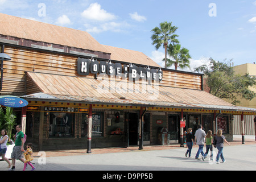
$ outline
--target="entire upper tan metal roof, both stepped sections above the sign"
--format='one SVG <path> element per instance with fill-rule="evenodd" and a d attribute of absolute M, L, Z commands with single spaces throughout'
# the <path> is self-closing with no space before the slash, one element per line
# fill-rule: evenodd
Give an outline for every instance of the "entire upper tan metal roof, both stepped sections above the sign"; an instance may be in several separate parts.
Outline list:
<path fill-rule="evenodd" d="M 160 67 L 142 52 L 102 45 L 98 43 L 97 40 L 94 39 L 88 32 L 38 22 L 35 20 L 19 18 L 2 13 L 0 13 L 0 34 L 13 36 L 16 38 L 35 40 L 38 42 L 58 44 L 61 46 L 111 53 L 110 59 L 112 60 L 149 65 L 151 67 Z M 18 44 L 17 41 L 5 39 L 1 39 L 1 42 Z M 32 44 L 32 47 L 42 48 L 44 46 Z M 44 47 L 44 49 L 64 52 L 64 49 L 52 47 Z M 72 50 L 70 52 L 85 56 L 90 55 L 89 53 L 76 52 Z M 97 57 L 97 55 L 93 54 L 90 56 Z"/>

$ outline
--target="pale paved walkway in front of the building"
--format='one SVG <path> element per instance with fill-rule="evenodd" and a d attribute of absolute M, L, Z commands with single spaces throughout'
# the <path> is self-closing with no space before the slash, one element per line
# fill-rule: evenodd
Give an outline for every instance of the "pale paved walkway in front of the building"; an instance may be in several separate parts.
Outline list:
<path fill-rule="evenodd" d="M 255 170 L 255 139 L 246 138 L 246 143 L 241 144 L 241 139 L 235 138 L 234 142 L 230 143 L 231 146 L 225 144 L 226 163 L 221 164 L 213 164 L 209 160 L 196 160 L 197 146 L 192 149 L 192 158 L 185 158 L 187 148 L 180 148 L 179 144 L 144 146 L 143 150 L 138 150 L 138 146 L 92 148 L 92 154 L 86 154 L 86 149 L 34 152 L 35 158 L 32 162 L 36 171 Z M 216 155 L 216 148 L 214 152 Z M 15 167 L 16 171 L 21 171 L 23 163 L 16 161 Z M 27 171 L 30 169 L 28 166 Z M 5 161 L 0 161 L 0 171 L 7 171 Z"/>

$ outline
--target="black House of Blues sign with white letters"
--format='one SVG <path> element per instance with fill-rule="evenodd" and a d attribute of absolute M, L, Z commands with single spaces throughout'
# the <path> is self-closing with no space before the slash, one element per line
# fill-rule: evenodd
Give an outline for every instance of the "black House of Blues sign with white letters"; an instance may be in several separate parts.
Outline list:
<path fill-rule="evenodd" d="M 97 61 L 94 59 L 82 59 L 79 57 L 77 60 L 77 73 L 82 76 L 95 74 L 96 78 L 98 74 L 104 74 L 109 76 L 120 76 L 133 79 L 133 80 L 152 80 L 160 82 L 163 79 L 163 71 L 159 69 L 150 69 L 149 67 L 137 67 L 135 64 L 122 64 L 111 63 L 109 60 Z"/>

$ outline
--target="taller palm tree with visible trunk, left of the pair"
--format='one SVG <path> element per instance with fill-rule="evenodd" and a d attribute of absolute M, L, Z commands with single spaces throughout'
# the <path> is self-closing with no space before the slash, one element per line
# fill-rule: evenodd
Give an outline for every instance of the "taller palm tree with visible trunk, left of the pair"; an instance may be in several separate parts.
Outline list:
<path fill-rule="evenodd" d="M 151 39 L 152 45 L 155 45 L 156 50 L 158 50 L 161 46 L 164 48 L 165 53 L 165 64 L 164 68 L 167 68 L 167 47 L 169 43 L 179 43 L 179 40 L 176 38 L 178 35 L 174 34 L 177 30 L 176 26 L 172 26 L 172 22 L 163 22 L 159 24 L 159 27 L 155 27 L 151 30 L 153 32 Z"/>

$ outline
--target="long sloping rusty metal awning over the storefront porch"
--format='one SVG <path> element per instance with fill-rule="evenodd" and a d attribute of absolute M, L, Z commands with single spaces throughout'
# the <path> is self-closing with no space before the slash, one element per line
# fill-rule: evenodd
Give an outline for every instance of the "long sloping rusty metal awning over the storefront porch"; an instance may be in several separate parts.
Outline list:
<path fill-rule="evenodd" d="M 85 102 L 98 105 L 143 106 L 158 109 L 181 108 L 187 111 L 228 111 L 233 114 L 256 114 L 256 109 L 234 106 L 203 90 L 181 89 L 128 82 L 126 79 L 53 75 L 27 72 L 28 100 Z M 236 113 L 237 112 L 237 113 Z M 239 113 L 238 113 L 239 112 Z"/>

